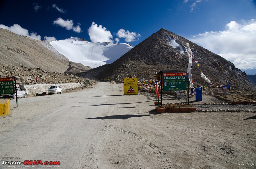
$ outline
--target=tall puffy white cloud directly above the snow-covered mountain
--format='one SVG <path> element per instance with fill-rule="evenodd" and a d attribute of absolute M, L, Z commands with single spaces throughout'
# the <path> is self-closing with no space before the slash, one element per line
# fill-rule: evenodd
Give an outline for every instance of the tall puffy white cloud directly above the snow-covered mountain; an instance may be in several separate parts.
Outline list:
<path fill-rule="evenodd" d="M 88 34 L 92 42 L 112 42 L 113 36 L 110 31 L 107 30 L 106 27 L 102 27 L 101 25 L 95 24 L 92 22 L 91 27 L 88 29 Z"/>

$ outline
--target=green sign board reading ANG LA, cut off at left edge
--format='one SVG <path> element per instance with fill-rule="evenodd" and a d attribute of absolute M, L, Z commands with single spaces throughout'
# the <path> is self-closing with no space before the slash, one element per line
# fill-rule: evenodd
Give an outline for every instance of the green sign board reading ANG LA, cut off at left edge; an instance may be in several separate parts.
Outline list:
<path fill-rule="evenodd" d="M 13 77 L 0 78 L 0 94 L 13 94 L 14 81 Z"/>

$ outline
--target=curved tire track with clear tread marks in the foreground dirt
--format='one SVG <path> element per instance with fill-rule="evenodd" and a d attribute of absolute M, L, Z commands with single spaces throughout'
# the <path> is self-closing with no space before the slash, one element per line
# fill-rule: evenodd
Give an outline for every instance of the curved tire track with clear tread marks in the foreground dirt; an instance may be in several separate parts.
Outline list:
<path fill-rule="evenodd" d="M 156 146 L 155 144 L 149 142 L 148 140 L 142 138 L 141 136 L 126 130 L 126 129 L 122 129 L 116 126 L 113 126 L 111 124 L 106 123 L 105 124 L 106 127 L 110 127 L 112 129 L 116 129 L 118 131 L 121 131 L 137 140 L 139 140 L 141 143 L 143 143 L 146 147 L 148 147 L 155 155 L 156 157 L 159 159 L 162 168 L 173 168 L 174 166 L 170 163 L 170 159 L 167 157 L 166 153 L 161 150 L 158 146 Z"/>

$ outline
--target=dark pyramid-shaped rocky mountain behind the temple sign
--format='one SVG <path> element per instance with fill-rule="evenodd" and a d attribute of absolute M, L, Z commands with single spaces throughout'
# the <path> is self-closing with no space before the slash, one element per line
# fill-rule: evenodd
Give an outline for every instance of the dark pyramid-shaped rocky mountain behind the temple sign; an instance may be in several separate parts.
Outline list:
<path fill-rule="evenodd" d="M 233 63 L 164 28 L 152 34 L 115 62 L 104 65 L 103 68 L 97 68 L 100 71 L 92 69 L 80 75 L 94 76 L 93 78 L 97 80 L 110 78 L 117 83 L 122 83 L 124 77 L 134 74 L 138 79 L 152 79 L 153 75 L 161 70 L 187 72 L 186 43 L 189 43 L 200 70 L 213 84 L 227 85 L 228 80 L 233 89 L 256 89 L 246 74 L 237 69 Z M 200 77 L 201 71 L 196 63 L 193 61 L 192 64 L 194 86 L 208 85 L 209 83 Z"/>

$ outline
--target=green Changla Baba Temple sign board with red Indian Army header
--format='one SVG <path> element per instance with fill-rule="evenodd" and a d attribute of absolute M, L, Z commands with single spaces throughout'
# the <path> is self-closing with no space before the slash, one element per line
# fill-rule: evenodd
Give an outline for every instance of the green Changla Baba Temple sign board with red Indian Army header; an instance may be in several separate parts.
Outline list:
<path fill-rule="evenodd" d="M 187 73 L 164 73 L 164 91 L 187 90 Z"/>

